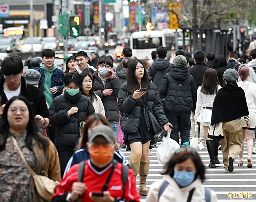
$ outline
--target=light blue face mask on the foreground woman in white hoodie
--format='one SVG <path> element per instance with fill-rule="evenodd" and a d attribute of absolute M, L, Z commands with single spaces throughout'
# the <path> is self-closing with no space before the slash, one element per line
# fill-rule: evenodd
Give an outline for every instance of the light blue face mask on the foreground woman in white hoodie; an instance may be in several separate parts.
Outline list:
<path fill-rule="evenodd" d="M 180 171 L 174 170 L 173 179 L 176 181 L 180 187 L 186 187 L 190 185 L 195 178 L 195 174 L 193 171 Z"/>

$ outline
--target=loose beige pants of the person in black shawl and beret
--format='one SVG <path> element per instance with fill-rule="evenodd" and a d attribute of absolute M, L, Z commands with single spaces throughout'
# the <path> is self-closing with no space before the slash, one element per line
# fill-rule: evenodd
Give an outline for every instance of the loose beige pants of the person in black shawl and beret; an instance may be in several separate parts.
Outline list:
<path fill-rule="evenodd" d="M 242 151 L 242 120 L 223 122 L 224 139 L 221 139 L 221 150 L 224 169 L 227 171 L 228 158 L 235 160 Z"/>

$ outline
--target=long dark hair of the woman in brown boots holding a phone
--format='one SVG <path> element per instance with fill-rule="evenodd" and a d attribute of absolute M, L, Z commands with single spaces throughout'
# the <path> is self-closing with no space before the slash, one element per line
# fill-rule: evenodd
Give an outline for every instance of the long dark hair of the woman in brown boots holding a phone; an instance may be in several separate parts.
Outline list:
<path fill-rule="evenodd" d="M 138 63 L 141 63 L 144 68 L 144 74 L 143 74 L 143 77 L 141 80 L 141 87 L 146 88 L 147 90 L 149 88 L 151 88 L 149 76 L 147 74 L 147 71 L 146 71 L 142 61 L 140 61 L 139 59 L 132 59 L 128 64 L 128 70 L 127 70 L 127 86 L 128 86 L 127 96 L 133 95 L 134 91 L 140 89 L 140 84 L 139 84 L 137 78 L 135 77 L 136 66 Z M 145 100 L 146 100 L 146 96 L 147 96 L 146 94 L 147 93 L 145 93 L 141 98 L 137 99 L 138 105 L 142 106 L 145 104 Z"/>

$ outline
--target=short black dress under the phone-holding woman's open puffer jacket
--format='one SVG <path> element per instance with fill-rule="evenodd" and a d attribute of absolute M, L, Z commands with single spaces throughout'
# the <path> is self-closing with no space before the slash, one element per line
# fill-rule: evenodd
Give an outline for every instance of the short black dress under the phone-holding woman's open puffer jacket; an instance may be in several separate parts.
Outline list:
<path fill-rule="evenodd" d="M 137 134 L 124 134 L 124 144 L 127 146 L 126 151 L 130 151 L 130 144 L 134 142 L 141 142 L 142 144 L 147 143 L 154 139 L 153 130 L 147 127 L 143 107 L 140 111 L 140 123 Z M 151 149 L 151 145 L 149 146 Z"/>

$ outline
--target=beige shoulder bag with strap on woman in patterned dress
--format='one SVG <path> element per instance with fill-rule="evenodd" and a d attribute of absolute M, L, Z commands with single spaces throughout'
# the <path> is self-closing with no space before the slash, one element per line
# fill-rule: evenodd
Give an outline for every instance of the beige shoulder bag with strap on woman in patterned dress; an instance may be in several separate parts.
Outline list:
<path fill-rule="evenodd" d="M 43 175 L 37 175 L 33 169 L 29 166 L 29 164 L 27 163 L 27 160 L 25 159 L 25 156 L 23 155 L 21 149 L 19 148 L 19 145 L 17 143 L 17 140 L 12 136 L 12 141 L 14 142 L 14 145 L 16 147 L 16 149 L 18 150 L 22 161 L 24 162 L 25 166 L 27 167 L 27 169 L 29 170 L 30 174 L 32 175 L 33 179 L 34 179 L 34 183 L 35 183 L 35 187 L 37 189 L 37 193 L 46 201 L 50 202 L 51 199 L 50 197 L 52 196 L 52 194 L 54 194 L 54 189 L 56 187 L 56 183 Z"/>

